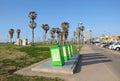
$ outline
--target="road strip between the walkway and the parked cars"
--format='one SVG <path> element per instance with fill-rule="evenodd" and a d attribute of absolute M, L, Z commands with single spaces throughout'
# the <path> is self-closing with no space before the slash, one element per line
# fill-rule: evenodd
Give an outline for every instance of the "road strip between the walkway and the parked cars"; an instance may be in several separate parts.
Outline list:
<path fill-rule="evenodd" d="M 100 60 L 109 60 L 104 62 L 108 69 L 120 79 L 120 52 L 103 49 L 95 45 L 89 45 L 96 53 L 103 55 Z M 104 57 L 104 58 L 103 58 Z"/>

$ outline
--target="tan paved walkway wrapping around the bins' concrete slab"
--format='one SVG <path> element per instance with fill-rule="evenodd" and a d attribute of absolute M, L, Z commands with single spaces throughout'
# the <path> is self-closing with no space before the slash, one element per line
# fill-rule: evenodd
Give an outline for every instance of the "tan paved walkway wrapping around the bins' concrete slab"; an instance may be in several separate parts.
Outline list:
<path fill-rule="evenodd" d="M 100 53 L 96 53 L 88 45 L 83 46 L 80 54 L 82 57 L 78 63 L 76 72 L 73 75 L 33 72 L 31 68 L 37 66 L 41 62 L 19 70 L 15 73 L 26 76 L 59 77 L 65 81 L 119 81 L 104 64 L 104 62 L 111 62 L 111 60 L 101 60 L 101 58 L 105 57 Z"/>

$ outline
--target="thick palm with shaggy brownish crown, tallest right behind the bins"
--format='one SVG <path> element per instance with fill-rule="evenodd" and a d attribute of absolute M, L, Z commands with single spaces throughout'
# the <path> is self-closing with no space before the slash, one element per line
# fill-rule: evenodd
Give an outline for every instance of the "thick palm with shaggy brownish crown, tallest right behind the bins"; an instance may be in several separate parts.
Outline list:
<path fill-rule="evenodd" d="M 67 40 L 67 37 L 68 37 L 69 23 L 68 22 L 63 22 L 61 25 L 62 25 L 63 36 L 64 36 L 63 43 L 65 43 L 66 40 Z"/>

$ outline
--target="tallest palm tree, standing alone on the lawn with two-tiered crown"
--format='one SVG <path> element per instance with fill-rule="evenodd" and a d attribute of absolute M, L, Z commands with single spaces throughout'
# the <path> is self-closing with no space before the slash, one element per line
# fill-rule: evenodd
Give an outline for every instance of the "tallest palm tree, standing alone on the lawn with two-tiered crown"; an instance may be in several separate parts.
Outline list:
<path fill-rule="evenodd" d="M 34 45 L 34 29 L 36 28 L 36 22 L 34 21 L 37 17 L 37 14 L 34 11 L 29 12 L 30 28 L 32 29 L 32 45 Z"/>

